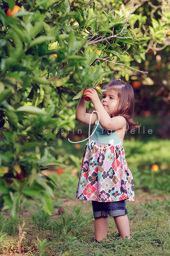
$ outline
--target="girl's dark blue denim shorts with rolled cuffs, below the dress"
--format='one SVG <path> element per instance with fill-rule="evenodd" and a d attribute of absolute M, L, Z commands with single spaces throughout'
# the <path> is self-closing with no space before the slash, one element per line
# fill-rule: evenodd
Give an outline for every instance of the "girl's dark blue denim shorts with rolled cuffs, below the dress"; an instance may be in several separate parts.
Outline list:
<path fill-rule="evenodd" d="M 92 201 L 94 218 L 105 216 L 116 217 L 127 214 L 125 200 L 116 202 L 97 202 Z"/>

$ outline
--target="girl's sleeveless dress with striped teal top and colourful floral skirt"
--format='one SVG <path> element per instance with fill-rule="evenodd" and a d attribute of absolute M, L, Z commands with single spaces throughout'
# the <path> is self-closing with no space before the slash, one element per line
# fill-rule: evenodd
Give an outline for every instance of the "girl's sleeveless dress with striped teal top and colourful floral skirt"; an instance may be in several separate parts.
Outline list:
<path fill-rule="evenodd" d="M 135 201 L 133 176 L 125 160 L 123 140 L 116 131 L 95 122 L 87 142 L 76 198 L 88 201 Z"/>

